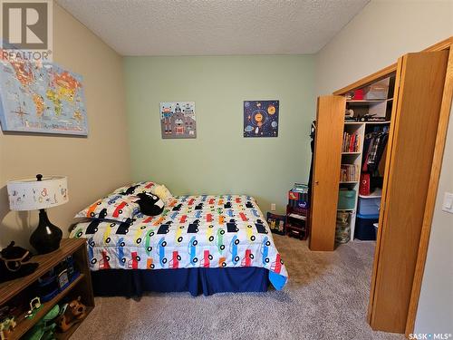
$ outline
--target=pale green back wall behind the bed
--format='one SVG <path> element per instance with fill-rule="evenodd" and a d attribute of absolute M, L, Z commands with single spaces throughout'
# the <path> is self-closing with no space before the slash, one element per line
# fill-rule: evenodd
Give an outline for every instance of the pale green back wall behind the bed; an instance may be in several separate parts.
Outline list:
<path fill-rule="evenodd" d="M 283 212 L 288 189 L 308 180 L 313 55 L 126 57 L 124 77 L 132 180 L 247 194 L 263 212 Z M 246 100 L 280 101 L 277 138 L 243 137 Z M 161 138 L 159 102 L 178 101 L 196 102 L 197 139 Z"/>

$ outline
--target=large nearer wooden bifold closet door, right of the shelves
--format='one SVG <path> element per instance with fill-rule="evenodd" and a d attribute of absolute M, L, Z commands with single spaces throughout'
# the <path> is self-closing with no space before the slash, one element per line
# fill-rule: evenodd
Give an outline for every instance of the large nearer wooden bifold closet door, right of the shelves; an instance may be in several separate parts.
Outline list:
<path fill-rule="evenodd" d="M 448 51 L 398 62 L 369 305 L 373 329 L 404 333 L 447 72 Z"/>

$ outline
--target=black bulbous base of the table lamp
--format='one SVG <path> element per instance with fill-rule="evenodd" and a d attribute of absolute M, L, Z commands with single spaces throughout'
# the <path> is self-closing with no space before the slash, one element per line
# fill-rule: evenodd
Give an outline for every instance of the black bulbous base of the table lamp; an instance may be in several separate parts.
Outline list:
<path fill-rule="evenodd" d="M 39 210 L 38 228 L 34 229 L 30 237 L 30 244 L 39 254 L 47 254 L 60 248 L 60 241 L 63 237 L 63 231 L 54 226 L 47 218 L 45 209 Z"/>

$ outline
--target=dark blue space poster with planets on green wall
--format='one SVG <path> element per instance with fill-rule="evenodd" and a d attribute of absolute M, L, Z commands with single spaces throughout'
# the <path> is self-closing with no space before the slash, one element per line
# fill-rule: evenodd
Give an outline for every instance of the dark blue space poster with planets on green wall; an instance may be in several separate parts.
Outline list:
<path fill-rule="evenodd" d="M 278 102 L 244 102 L 244 137 L 278 136 Z"/>

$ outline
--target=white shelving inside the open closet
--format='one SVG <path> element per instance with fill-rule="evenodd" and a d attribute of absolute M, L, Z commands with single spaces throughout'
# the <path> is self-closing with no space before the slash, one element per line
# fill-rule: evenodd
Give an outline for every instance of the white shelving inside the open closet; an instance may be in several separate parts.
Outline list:
<path fill-rule="evenodd" d="M 342 181 L 340 180 L 339 189 L 353 189 L 355 190 L 355 198 L 352 209 L 337 209 L 337 211 L 348 211 L 350 212 L 350 228 L 351 228 L 351 240 L 354 239 L 355 224 L 357 218 L 357 208 L 359 197 L 362 199 L 366 198 L 378 198 L 381 195 L 362 196 L 359 194 L 360 187 L 360 175 L 361 175 L 361 164 L 365 156 L 366 151 L 363 150 L 363 142 L 365 135 L 374 130 L 375 127 L 389 126 L 390 127 L 390 112 L 393 103 L 393 90 L 394 90 L 395 78 L 394 75 L 376 82 L 373 85 L 383 87 L 386 92 L 385 97 L 382 99 L 359 99 L 354 100 L 353 91 L 346 94 L 346 115 L 343 126 L 343 133 L 357 133 L 360 146 L 359 151 L 353 152 L 342 152 L 342 164 L 355 164 L 359 167 L 358 179 L 353 181 Z M 363 89 L 359 89 L 362 91 Z M 351 99 L 352 98 L 352 99 Z M 347 117 L 351 115 L 352 110 L 354 112 L 353 117 Z M 372 117 L 367 117 L 367 114 L 373 114 Z M 364 117 L 364 118 L 363 118 Z M 368 119 L 368 120 L 367 120 Z M 371 120 L 372 119 L 372 120 Z"/>

